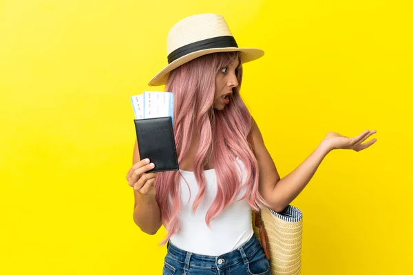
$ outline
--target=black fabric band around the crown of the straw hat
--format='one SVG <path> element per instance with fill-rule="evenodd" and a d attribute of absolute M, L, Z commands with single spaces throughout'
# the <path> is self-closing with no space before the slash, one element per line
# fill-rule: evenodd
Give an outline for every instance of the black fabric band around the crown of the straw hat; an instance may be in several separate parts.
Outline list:
<path fill-rule="evenodd" d="M 182 56 L 191 54 L 192 52 L 212 49 L 215 47 L 238 47 L 238 45 L 233 36 L 218 36 L 213 37 L 211 39 L 196 41 L 188 45 L 178 47 L 178 49 L 171 52 L 171 54 L 168 55 L 168 64 L 172 63 L 173 61 L 176 61 L 178 58 L 181 58 Z"/>

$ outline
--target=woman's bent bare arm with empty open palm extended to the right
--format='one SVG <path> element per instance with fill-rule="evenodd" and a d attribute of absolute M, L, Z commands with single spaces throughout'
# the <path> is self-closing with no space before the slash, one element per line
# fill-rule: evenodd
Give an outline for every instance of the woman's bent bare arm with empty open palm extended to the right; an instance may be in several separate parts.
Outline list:
<path fill-rule="evenodd" d="M 257 157 L 259 174 L 260 194 L 275 212 L 281 212 L 291 203 L 299 193 L 306 187 L 315 171 L 323 161 L 326 155 L 334 149 L 352 149 L 361 151 L 368 148 L 376 139 L 372 139 L 364 144 L 370 135 L 376 133 L 373 131 L 364 131 L 357 137 L 345 137 L 339 133 L 327 133 L 326 137 L 319 143 L 315 151 L 311 153 L 293 172 L 280 179 L 275 168 L 271 155 L 268 153 L 260 129 L 255 120 L 251 134 L 255 146 L 255 157 Z"/>

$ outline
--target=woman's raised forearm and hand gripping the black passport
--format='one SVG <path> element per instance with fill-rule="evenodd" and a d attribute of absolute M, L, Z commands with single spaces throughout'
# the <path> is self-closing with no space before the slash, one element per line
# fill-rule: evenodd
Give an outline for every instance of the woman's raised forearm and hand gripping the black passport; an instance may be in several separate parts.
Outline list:
<path fill-rule="evenodd" d="M 140 160 L 138 142 L 135 142 L 133 166 L 127 173 L 129 186 L 134 188 L 134 221 L 140 230 L 156 234 L 162 226 L 160 209 L 156 202 L 156 188 L 153 186 L 157 173 L 147 173 L 153 169 L 145 159 Z"/>

